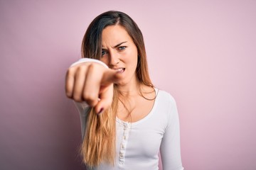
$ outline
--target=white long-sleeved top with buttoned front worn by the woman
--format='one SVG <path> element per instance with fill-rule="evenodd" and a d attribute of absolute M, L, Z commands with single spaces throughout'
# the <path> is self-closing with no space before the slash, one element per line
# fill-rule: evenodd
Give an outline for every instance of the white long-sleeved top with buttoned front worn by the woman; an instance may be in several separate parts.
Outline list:
<path fill-rule="evenodd" d="M 86 115 L 90 108 L 86 103 L 75 104 L 80 112 L 84 135 Z M 128 123 L 116 118 L 116 121 L 114 166 L 102 163 L 93 169 L 157 170 L 160 150 L 164 170 L 183 170 L 178 111 L 174 98 L 166 91 L 156 89 L 154 106 L 142 120 Z"/>

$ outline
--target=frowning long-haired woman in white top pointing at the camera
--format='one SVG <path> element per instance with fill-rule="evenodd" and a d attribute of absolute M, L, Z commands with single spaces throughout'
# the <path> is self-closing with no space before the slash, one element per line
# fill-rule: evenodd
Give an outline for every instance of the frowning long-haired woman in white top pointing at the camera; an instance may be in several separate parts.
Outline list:
<path fill-rule="evenodd" d="M 181 170 L 174 98 L 149 79 L 141 31 L 119 11 L 97 16 L 68 69 L 66 94 L 80 112 L 81 154 L 89 169 Z"/>

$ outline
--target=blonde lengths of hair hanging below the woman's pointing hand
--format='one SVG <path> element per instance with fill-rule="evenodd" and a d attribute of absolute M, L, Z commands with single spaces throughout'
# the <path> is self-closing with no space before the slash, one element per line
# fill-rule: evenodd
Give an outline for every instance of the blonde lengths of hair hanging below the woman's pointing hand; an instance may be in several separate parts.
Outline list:
<path fill-rule="evenodd" d="M 85 137 L 80 152 L 87 166 L 97 166 L 101 162 L 114 164 L 115 118 L 117 113 L 117 93 L 114 93 L 112 107 L 98 116 L 92 108 L 87 115 Z"/>

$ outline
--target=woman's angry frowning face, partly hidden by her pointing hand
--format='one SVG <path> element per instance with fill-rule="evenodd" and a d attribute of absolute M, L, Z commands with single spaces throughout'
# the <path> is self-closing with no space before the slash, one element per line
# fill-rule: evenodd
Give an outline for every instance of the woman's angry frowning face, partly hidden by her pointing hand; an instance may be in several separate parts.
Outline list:
<path fill-rule="evenodd" d="M 122 69 L 118 85 L 137 82 L 138 50 L 122 26 L 107 26 L 102 31 L 102 57 L 110 69 Z"/>

